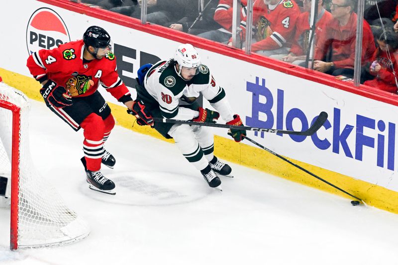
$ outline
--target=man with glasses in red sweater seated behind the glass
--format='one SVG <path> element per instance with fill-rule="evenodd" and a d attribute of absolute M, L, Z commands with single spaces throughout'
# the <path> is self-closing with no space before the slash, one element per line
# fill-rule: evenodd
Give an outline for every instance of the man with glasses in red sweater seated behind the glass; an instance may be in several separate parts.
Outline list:
<path fill-rule="evenodd" d="M 357 14 L 353 12 L 353 0 L 332 0 L 333 19 L 326 34 L 318 39 L 315 47 L 314 70 L 333 76 L 354 76 L 355 40 Z M 375 52 L 372 31 L 366 20 L 363 21 L 361 65 L 371 60 Z"/>

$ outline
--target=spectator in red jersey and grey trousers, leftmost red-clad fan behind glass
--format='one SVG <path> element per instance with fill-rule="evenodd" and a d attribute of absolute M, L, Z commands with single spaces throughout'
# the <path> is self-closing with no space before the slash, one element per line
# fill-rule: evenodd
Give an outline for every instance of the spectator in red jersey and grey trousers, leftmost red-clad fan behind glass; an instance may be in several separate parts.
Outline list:
<path fill-rule="evenodd" d="M 220 0 L 214 12 L 214 21 L 222 28 L 200 33 L 198 36 L 217 42 L 227 42 L 232 36 L 233 0 Z M 240 20 L 246 17 L 247 0 L 241 0 Z"/>

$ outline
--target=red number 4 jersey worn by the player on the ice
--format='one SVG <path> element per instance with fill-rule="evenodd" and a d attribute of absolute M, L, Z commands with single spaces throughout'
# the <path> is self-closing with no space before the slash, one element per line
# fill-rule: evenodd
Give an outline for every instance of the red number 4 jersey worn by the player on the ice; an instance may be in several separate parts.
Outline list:
<path fill-rule="evenodd" d="M 72 97 L 93 94 L 99 84 L 116 99 L 130 92 L 123 84 L 116 70 L 116 58 L 108 53 L 101 60 L 83 62 L 83 40 L 72 41 L 52 50 L 32 53 L 27 67 L 37 81 L 51 79 L 58 86 L 65 87 Z"/>

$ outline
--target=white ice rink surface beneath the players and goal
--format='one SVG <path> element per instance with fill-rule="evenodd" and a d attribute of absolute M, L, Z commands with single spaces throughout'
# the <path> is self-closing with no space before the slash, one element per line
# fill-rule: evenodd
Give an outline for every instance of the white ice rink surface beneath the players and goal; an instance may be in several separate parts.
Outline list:
<path fill-rule="evenodd" d="M 116 195 L 92 191 L 75 133 L 33 101 L 30 145 L 37 169 L 89 221 L 83 241 L 9 250 L 9 211 L 0 209 L 0 264 L 336 265 L 396 264 L 398 215 L 233 165 L 223 191 L 209 188 L 177 147 L 116 126 L 103 167 Z M 255 137 L 254 137 L 255 139 Z"/>

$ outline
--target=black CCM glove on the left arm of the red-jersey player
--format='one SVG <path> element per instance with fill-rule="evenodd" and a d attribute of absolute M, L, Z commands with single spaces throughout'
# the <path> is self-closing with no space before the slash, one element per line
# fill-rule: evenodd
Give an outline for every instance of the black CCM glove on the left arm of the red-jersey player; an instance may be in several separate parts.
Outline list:
<path fill-rule="evenodd" d="M 55 108 L 63 108 L 72 105 L 71 96 L 67 93 L 64 87 L 58 86 L 52 80 L 48 80 L 47 83 L 40 89 L 40 94 L 43 96 L 46 104 L 50 104 Z"/>

